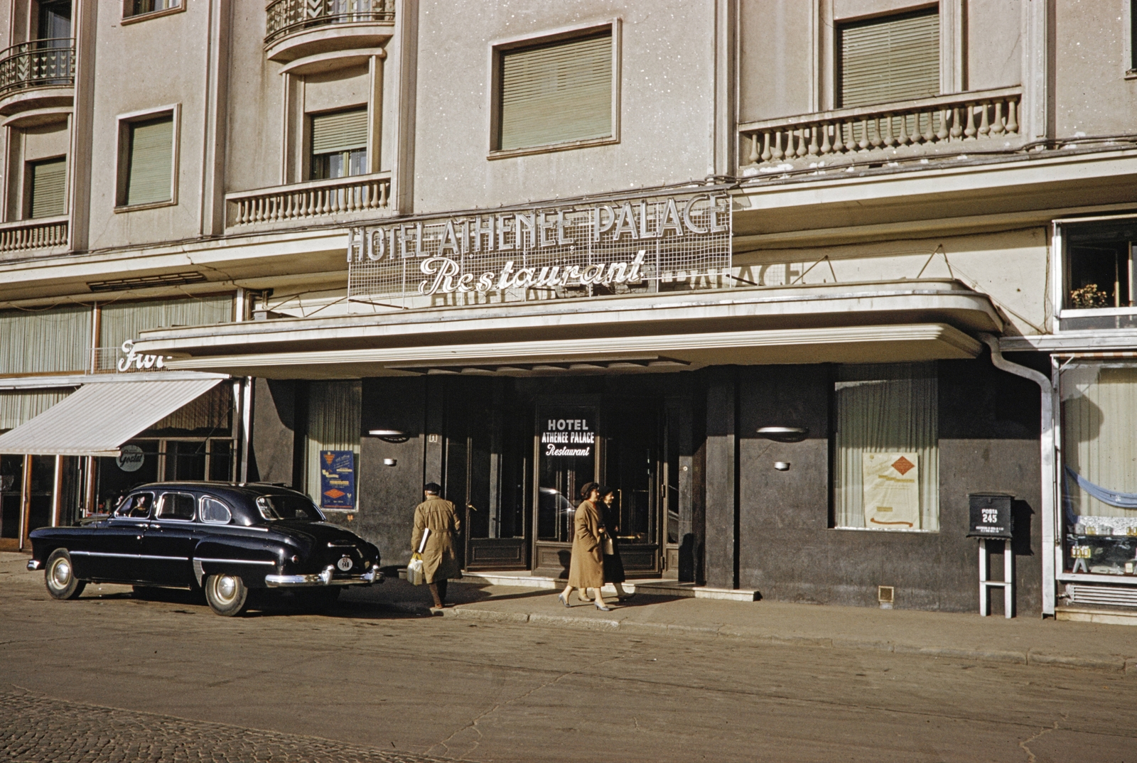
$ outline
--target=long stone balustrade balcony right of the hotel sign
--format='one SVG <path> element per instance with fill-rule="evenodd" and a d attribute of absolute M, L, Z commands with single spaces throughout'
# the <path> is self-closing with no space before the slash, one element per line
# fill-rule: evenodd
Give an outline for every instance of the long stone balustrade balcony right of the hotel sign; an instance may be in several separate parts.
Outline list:
<path fill-rule="evenodd" d="M 1007 88 L 752 122 L 738 127 L 741 174 L 1012 150 L 1021 106 Z"/>

